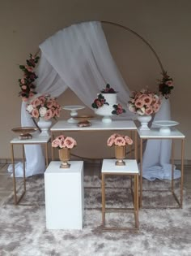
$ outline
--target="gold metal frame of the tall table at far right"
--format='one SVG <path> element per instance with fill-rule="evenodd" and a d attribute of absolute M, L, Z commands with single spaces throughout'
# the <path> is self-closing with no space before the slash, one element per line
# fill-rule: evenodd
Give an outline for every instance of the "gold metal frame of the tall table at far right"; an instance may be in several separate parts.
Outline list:
<path fill-rule="evenodd" d="M 142 190 L 142 143 L 144 140 L 172 140 L 172 182 L 171 182 L 171 188 L 170 189 L 163 189 L 163 190 Z M 174 191 L 174 142 L 175 140 L 181 140 L 181 177 L 180 177 L 180 200 L 176 196 L 176 193 Z M 156 209 L 156 208 L 168 208 L 168 209 L 177 209 L 182 208 L 183 206 L 183 180 L 184 180 L 184 155 L 185 155 L 185 138 L 140 138 L 140 197 L 139 197 L 139 206 L 144 209 Z M 159 192 L 167 192 L 171 191 L 172 195 L 177 202 L 178 206 L 142 206 L 142 191 L 159 191 Z"/>

